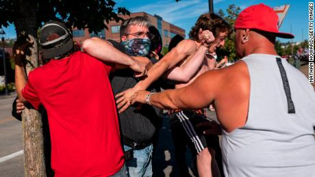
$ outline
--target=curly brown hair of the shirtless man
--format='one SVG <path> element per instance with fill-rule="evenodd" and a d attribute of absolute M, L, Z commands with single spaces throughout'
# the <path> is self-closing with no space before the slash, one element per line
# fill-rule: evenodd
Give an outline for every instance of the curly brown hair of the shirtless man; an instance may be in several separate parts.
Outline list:
<path fill-rule="evenodd" d="M 199 29 L 212 31 L 214 37 L 218 36 L 219 33 L 224 32 L 227 32 L 227 35 L 229 35 L 232 31 L 231 25 L 214 13 L 201 14 L 189 32 L 189 38 L 199 42 Z"/>

